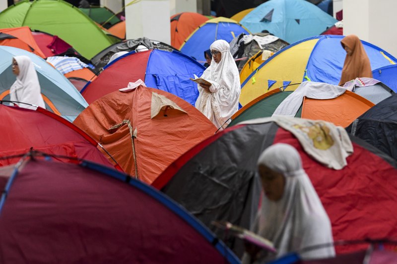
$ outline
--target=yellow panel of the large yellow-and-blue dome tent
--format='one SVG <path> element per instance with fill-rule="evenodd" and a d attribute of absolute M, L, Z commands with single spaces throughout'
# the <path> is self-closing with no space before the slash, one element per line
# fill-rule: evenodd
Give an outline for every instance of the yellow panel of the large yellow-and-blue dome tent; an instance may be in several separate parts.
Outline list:
<path fill-rule="evenodd" d="M 245 106 L 266 92 L 283 86 L 284 81 L 290 81 L 291 84 L 301 83 L 310 54 L 318 41 L 319 39 L 304 41 L 274 55 L 253 76 L 255 82 L 252 80 L 253 77 L 247 80 L 244 88 L 241 89 L 240 104 Z M 268 89 L 268 80 L 276 81 L 270 89 Z M 285 91 L 293 91 L 297 87 L 298 85 L 288 86 Z"/>

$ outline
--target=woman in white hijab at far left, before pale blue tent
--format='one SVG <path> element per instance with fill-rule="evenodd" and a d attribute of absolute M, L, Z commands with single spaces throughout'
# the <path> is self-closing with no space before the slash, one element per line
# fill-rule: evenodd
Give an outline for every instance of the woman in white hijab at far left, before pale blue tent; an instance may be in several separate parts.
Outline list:
<path fill-rule="evenodd" d="M 9 94 L 10 101 L 26 103 L 46 108 L 39 78 L 32 60 L 28 56 L 15 56 L 12 58 L 12 73 L 16 75 L 16 81 L 12 84 Z M 19 107 L 35 110 L 35 106 L 14 103 Z"/>

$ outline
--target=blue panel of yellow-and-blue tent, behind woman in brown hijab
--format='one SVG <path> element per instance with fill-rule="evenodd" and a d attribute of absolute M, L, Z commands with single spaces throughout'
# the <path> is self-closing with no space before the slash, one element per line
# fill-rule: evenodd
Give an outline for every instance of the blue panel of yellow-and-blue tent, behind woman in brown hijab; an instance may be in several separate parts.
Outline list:
<path fill-rule="evenodd" d="M 306 67 L 307 75 L 314 82 L 338 85 L 346 57 L 346 52 L 340 45 L 340 41 L 344 36 L 324 35 L 315 38 L 318 38 L 319 41 L 309 57 Z M 391 65 L 391 62 L 381 52 L 397 62 L 395 57 L 384 50 L 365 41 L 361 41 L 361 43 L 371 62 L 371 69 Z M 374 77 L 374 79 L 376 78 Z M 305 80 L 303 79 L 302 81 Z M 385 84 L 388 85 L 387 83 Z"/>

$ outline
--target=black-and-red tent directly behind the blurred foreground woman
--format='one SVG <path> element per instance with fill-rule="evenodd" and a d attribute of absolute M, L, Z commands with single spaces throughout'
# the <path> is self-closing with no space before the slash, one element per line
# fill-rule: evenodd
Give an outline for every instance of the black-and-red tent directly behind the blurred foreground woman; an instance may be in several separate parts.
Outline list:
<path fill-rule="evenodd" d="M 302 158 L 330 216 L 334 240 L 397 236 L 397 211 L 390 210 L 397 206 L 397 165 L 392 158 L 351 137 L 354 152 L 347 157 L 347 166 L 331 169 L 310 158 L 291 132 L 256 120 L 202 141 L 174 161 L 152 186 L 213 230 L 214 219 L 250 228 L 261 191 L 257 160 L 268 146 L 286 143 Z M 218 237 L 224 237 L 223 233 Z M 357 248 L 360 245 L 337 248 L 337 252 Z"/>

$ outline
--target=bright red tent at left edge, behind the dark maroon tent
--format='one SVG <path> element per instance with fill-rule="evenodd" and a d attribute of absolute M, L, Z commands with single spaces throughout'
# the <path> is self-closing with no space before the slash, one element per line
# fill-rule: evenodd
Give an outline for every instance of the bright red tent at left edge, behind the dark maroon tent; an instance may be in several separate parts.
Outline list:
<path fill-rule="evenodd" d="M 0 157 L 20 155 L 27 150 L 88 159 L 106 166 L 113 165 L 97 149 L 97 143 L 64 118 L 38 107 L 29 110 L 0 105 Z M 0 159 L 0 166 L 19 158 Z"/>

